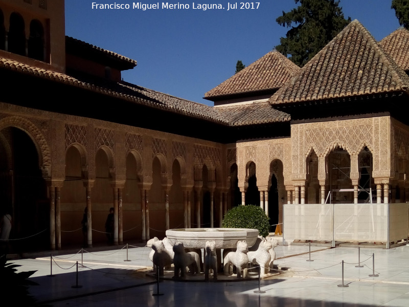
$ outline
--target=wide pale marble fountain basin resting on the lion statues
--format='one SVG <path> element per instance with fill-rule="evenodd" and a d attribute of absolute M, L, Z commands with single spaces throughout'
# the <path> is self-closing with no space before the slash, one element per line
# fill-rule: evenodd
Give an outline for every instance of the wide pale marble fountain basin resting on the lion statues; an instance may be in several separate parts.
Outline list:
<path fill-rule="evenodd" d="M 181 242 L 185 248 L 205 248 L 206 241 L 214 241 L 217 249 L 236 248 L 237 241 L 246 240 L 252 247 L 259 231 L 246 228 L 183 228 L 166 230 L 166 237 L 175 244 Z"/>

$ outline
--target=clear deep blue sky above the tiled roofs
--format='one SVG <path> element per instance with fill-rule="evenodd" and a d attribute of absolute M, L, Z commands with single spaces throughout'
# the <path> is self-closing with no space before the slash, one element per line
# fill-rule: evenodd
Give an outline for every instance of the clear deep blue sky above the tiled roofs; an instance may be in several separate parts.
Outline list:
<path fill-rule="evenodd" d="M 234 74 L 237 60 L 251 64 L 279 45 L 288 31 L 276 18 L 296 7 L 294 0 L 257 1 L 258 9 L 203 11 L 193 9 L 193 1 L 179 0 L 169 3 L 190 8 L 143 11 L 132 9 L 127 0 L 65 0 L 65 33 L 137 60 L 136 68 L 123 72 L 125 81 L 213 105 L 202 97 Z M 129 4 L 130 9 L 92 9 L 93 2 Z M 228 2 L 200 0 L 195 6 L 226 7 Z M 377 40 L 399 28 L 391 0 L 341 0 L 340 6 L 345 17 L 358 19 Z"/>

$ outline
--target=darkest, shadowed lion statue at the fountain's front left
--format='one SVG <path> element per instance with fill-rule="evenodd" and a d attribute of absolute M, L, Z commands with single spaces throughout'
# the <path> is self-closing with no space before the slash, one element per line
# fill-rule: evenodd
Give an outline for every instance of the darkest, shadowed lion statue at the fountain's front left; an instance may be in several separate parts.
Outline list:
<path fill-rule="evenodd" d="M 174 256 L 173 256 L 173 265 L 174 265 L 174 276 L 173 278 L 186 277 L 186 267 L 189 267 L 190 271 L 195 273 L 200 273 L 200 260 L 199 254 L 195 252 L 185 252 L 185 246 L 181 242 L 176 242 L 173 246 Z"/>

